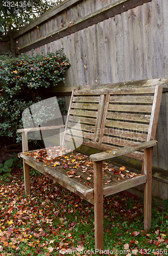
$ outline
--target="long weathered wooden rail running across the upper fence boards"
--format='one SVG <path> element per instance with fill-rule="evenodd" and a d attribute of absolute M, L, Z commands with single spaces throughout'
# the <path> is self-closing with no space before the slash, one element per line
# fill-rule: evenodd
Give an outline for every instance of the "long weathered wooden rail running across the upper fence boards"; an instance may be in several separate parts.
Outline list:
<path fill-rule="evenodd" d="M 65 27 L 59 27 L 58 29 L 56 29 L 50 33 L 44 33 L 44 35 L 42 37 L 40 37 L 39 39 L 33 40 L 33 42 L 30 41 L 28 44 L 25 44 L 24 46 L 20 46 L 19 47 L 20 49 L 16 50 L 16 53 L 25 52 L 25 51 L 29 51 L 31 49 L 35 49 L 35 48 L 45 45 L 49 42 L 52 42 L 54 40 L 60 39 L 62 37 L 70 35 L 74 32 L 77 32 L 79 30 L 83 30 L 85 28 L 88 28 L 89 26 L 100 23 L 100 22 L 102 22 L 102 20 L 105 20 L 109 17 L 113 17 L 117 14 L 120 14 L 122 12 L 129 10 L 130 8 L 134 8 L 138 5 L 142 5 L 148 1 L 149 0 L 139 0 L 138 2 L 137 2 L 137 0 L 119 0 L 116 3 L 109 4 L 108 6 L 101 8 L 98 11 L 95 11 L 91 14 L 88 14 L 84 17 L 79 18 L 78 20 L 74 21 L 73 23 L 70 22 L 69 24 L 66 24 Z M 46 15 L 48 15 L 48 14 L 46 14 Z M 34 22 L 34 24 L 35 23 L 36 23 L 36 21 Z M 33 27 L 34 27 L 34 25 L 33 25 Z M 26 30 L 26 29 L 24 29 L 24 30 Z M 24 30 L 22 31 L 22 33 L 24 33 Z M 15 35 L 15 38 L 18 36 L 19 36 L 19 33 Z"/>

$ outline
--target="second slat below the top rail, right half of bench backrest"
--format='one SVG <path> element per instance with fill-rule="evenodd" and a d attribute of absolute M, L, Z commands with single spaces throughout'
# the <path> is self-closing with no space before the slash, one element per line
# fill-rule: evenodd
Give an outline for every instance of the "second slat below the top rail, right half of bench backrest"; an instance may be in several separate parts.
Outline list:
<path fill-rule="evenodd" d="M 152 105 L 120 105 L 120 104 L 109 104 L 108 110 L 121 111 L 121 112 L 141 112 L 151 113 Z"/>

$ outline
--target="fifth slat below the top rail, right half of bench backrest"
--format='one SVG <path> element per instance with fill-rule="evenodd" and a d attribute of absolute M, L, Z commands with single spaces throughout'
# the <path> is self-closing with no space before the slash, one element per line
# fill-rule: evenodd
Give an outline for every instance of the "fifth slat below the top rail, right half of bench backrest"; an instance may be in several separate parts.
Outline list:
<path fill-rule="evenodd" d="M 112 128 L 104 128 L 104 135 L 113 135 L 121 138 L 130 138 L 132 140 L 138 140 L 138 141 L 146 141 L 147 140 L 147 134 L 144 133 L 134 133 L 131 131 L 124 131 L 124 130 L 117 130 Z"/>

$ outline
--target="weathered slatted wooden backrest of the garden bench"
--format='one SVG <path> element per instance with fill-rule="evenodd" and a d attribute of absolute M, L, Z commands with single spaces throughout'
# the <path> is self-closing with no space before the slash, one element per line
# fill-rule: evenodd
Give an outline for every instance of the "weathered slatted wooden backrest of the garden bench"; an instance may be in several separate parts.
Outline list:
<path fill-rule="evenodd" d="M 161 93 L 161 86 L 74 91 L 64 139 L 73 131 L 82 144 L 104 151 L 155 139 Z M 143 152 L 127 156 L 144 159 Z"/>

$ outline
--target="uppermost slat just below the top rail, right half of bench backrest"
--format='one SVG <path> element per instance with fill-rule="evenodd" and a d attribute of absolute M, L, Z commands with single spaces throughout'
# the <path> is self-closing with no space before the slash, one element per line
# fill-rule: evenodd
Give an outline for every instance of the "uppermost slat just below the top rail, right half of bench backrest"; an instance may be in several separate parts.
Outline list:
<path fill-rule="evenodd" d="M 110 96 L 109 102 L 118 103 L 152 103 L 153 96 Z"/>

